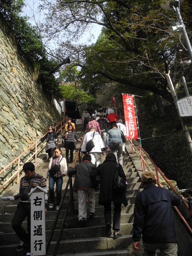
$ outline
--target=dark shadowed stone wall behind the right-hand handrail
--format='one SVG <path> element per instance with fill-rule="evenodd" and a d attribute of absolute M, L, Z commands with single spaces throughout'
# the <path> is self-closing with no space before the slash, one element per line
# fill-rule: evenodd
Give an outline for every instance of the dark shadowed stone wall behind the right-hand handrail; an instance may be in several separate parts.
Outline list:
<path fill-rule="evenodd" d="M 183 188 L 192 188 L 192 155 L 183 131 L 143 140 L 142 146 L 169 179 Z"/>

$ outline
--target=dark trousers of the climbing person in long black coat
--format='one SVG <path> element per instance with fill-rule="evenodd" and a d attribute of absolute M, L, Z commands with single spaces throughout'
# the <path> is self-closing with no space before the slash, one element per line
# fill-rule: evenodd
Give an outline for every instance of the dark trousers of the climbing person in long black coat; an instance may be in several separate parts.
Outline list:
<path fill-rule="evenodd" d="M 113 202 L 114 214 L 113 214 L 113 230 L 120 230 L 121 223 L 121 203 Z M 104 217 L 105 224 L 111 223 L 111 200 L 105 201 L 104 203 Z"/>

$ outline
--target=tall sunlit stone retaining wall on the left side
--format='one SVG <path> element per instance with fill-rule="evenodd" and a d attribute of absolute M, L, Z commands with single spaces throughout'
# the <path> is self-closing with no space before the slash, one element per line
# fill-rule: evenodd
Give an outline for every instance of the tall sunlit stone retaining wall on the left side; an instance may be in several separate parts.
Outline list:
<path fill-rule="evenodd" d="M 9 35 L 0 19 L 0 169 L 45 134 L 49 123 L 61 122 Z"/>

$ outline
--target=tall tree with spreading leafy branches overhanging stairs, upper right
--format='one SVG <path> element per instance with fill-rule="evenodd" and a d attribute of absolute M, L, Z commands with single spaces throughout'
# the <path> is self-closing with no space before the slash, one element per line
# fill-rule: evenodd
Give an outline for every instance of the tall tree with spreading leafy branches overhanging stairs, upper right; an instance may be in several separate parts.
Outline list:
<path fill-rule="evenodd" d="M 78 77 L 94 93 L 114 81 L 148 90 L 172 102 L 164 71 L 167 64 L 179 81 L 189 74 L 189 56 L 180 34 L 169 36 L 167 28 L 176 21 L 175 12 L 160 8 L 159 0 L 43 0 L 49 9 L 42 29 L 58 39 L 74 65 L 81 67 Z M 191 34 L 190 1 L 183 3 L 183 19 Z M 182 11 L 182 9 L 181 9 Z M 188 15 L 187 15 L 188 14 Z M 103 27 L 102 35 L 91 46 L 70 44 L 78 40 L 91 24 Z M 64 41 L 65 38 L 68 41 Z M 183 58 L 180 58 L 180 52 Z M 187 63 L 188 61 L 188 63 Z M 185 69 L 183 70 L 183 66 Z"/>

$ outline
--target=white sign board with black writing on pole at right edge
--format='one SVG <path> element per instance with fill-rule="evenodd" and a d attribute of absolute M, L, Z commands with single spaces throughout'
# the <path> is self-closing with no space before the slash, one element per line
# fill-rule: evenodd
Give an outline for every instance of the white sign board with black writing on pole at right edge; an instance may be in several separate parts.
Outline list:
<path fill-rule="evenodd" d="M 177 107 L 181 117 L 192 116 L 192 96 L 177 100 Z"/>

